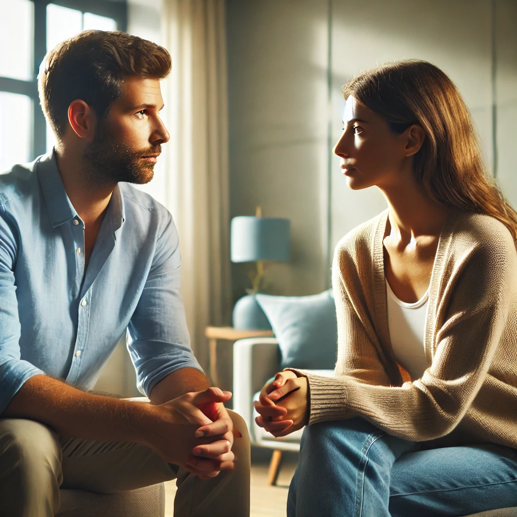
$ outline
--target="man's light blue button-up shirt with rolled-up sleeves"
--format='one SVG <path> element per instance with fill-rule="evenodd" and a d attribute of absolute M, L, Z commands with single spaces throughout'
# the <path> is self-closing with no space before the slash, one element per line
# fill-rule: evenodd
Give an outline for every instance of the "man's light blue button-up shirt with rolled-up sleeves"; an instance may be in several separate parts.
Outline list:
<path fill-rule="evenodd" d="M 90 389 L 128 329 L 139 390 L 180 368 L 202 371 L 179 293 L 171 214 L 115 188 L 84 271 L 84 223 L 53 154 L 0 175 L 0 414 L 29 377 Z"/>

